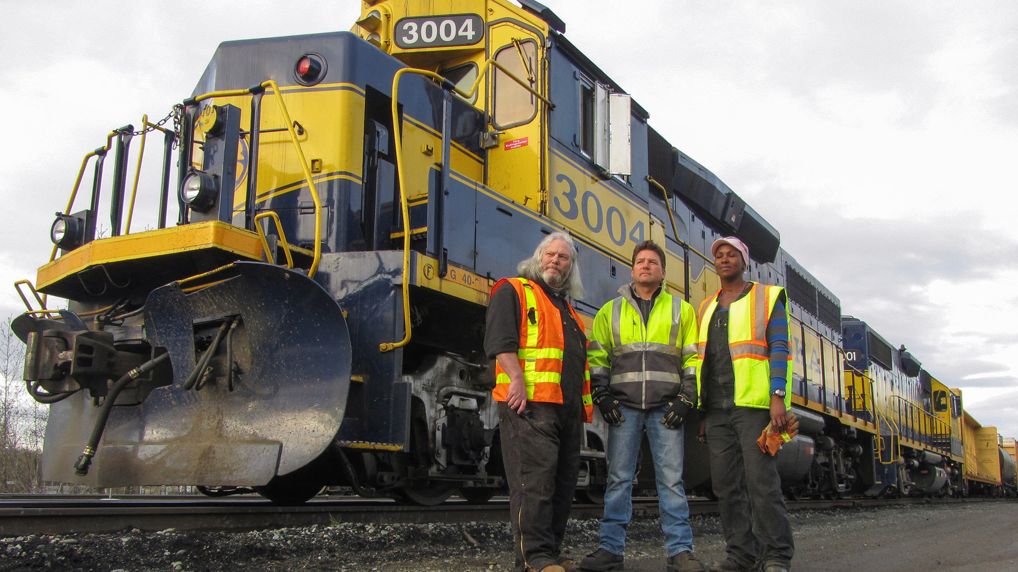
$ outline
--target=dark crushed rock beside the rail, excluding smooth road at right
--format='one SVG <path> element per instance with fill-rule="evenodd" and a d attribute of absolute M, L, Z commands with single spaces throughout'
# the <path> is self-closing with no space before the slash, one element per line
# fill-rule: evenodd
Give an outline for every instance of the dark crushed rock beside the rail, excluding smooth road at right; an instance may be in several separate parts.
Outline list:
<path fill-rule="evenodd" d="M 860 521 L 874 520 L 875 513 L 902 510 L 922 507 L 797 511 L 791 513 L 792 527 L 830 529 L 837 536 Z M 701 558 L 723 553 L 717 516 L 692 516 L 690 524 Z M 578 561 L 596 549 L 598 529 L 596 519 L 570 520 L 568 554 Z M 662 541 L 657 518 L 635 518 L 628 529 L 627 558 L 663 558 Z M 132 528 L 0 538 L 0 572 L 505 572 L 512 570 L 510 551 L 507 522 L 337 523 L 246 532 Z"/>

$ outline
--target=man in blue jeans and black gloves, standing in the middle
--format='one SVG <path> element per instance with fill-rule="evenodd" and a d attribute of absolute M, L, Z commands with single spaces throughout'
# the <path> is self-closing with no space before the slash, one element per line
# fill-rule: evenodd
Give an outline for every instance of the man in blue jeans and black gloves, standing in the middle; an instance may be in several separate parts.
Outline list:
<path fill-rule="evenodd" d="M 658 481 L 665 569 L 698 572 L 682 488 L 683 420 L 696 408 L 696 318 L 664 291 L 665 251 L 653 240 L 633 249 L 631 284 L 593 319 L 587 348 L 593 402 L 608 430 L 608 487 L 600 548 L 581 570 L 621 570 L 632 515 L 636 456 L 646 432 Z"/>

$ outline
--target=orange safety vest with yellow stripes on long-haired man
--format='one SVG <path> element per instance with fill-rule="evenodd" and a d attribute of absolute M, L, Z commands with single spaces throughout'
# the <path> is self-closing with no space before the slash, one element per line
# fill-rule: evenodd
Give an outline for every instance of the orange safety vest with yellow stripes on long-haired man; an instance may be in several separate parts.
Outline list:
<path fill-rule="evenodd" d="M 565 355 L 565 337 L 562 332 L 562 314 L 541 286 L 525 278 L 503 278 L 492 288 L 492 293 L 508 282 L 519 296 L 519 366 L 526 383 L 527 401 L 562 403 L 562 363 Z M 572 305 L 569 313 L 577 325 L 582 325 Z M 589 342 L 587 342 L 589 343 Z M 583 361 L 583 420 L 593 421 L 593 401 L 590 399 L 590 366 Z M 495 389 L 492 397 L 505 401 L 509 394 L 509 375 L 496 360 Z"/>

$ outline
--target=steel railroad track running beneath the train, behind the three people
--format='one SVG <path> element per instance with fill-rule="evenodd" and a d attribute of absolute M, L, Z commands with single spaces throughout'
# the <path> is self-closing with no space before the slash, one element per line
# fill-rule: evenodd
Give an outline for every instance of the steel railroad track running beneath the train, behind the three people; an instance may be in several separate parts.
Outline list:
<path fill-rule="evenodd" d="M 844 499 L 788 501 L 790 510 L 866 507 L 888 504 L 959 503 L 978 499 Z M 318 497 L 299 507 L 273 505 L 261 497 L 0 497 L 0 537 L 24 534 L 147 531 L 249 530 L 339 522 L 420 524 L 431 522 L 494 522 L 508 518 L 509 501 L 485 505 L 449 501 L 436 507 L 411 507 L 389 500 Z M 572 518 L 599 518 L 600 505 L 574 504 Z M 691 514 L 717 513 L 706 499 L 690 499 Z M 657 516 L 657 500 L 634 500 L 634 516 Z"/>

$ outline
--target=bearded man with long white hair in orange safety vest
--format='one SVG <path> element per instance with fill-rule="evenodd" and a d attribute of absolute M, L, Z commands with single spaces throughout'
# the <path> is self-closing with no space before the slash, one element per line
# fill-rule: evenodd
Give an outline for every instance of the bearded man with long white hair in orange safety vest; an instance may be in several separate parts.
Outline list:
<path fill-rule="evenodd" d="M 582 294 L 577 248 L 565 233 L 541 241 L 517 278 L 492 288 L 485 352 L 497 360 L 502 460 L 516 572 L 564 572 L 562 554 L 579 472 L 583 421 L 592 420 L 586 336 L 568 297 Z"/>

